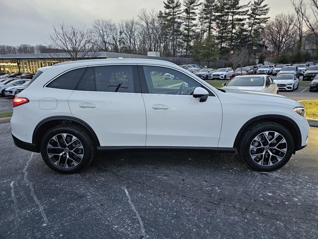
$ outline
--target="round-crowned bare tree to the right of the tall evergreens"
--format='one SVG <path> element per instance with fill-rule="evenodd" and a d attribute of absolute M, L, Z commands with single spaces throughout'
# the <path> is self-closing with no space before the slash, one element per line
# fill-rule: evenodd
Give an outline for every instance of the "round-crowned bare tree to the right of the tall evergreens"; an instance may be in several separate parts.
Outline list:
<path fill-rule="evenodd" d="M 294 14 L 280 13 L 268 22 L 264 38 L 277 55 L 285 49 L 294 49 L 297 42 L 297 27 Z"/>

